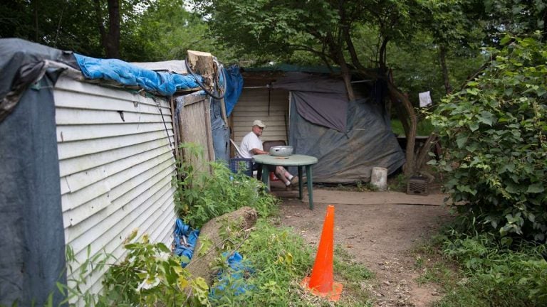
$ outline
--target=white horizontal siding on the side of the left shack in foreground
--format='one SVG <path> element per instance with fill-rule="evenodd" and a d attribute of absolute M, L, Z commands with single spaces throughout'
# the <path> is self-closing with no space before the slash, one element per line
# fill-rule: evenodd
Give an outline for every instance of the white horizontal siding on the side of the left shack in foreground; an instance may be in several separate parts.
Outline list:
<path fill-rule="evenodd" d="M 135 228 L 169 246 L 175 220 L 170 104 L 68 77 L 58 80 L 53 95 L 65 241 L 78 262 L 88 258 L 88 246 L 91 256 L 123 259 L 122 242 Z M 99 291 L 102 275 L 94 272 L 83 291 Z"/>

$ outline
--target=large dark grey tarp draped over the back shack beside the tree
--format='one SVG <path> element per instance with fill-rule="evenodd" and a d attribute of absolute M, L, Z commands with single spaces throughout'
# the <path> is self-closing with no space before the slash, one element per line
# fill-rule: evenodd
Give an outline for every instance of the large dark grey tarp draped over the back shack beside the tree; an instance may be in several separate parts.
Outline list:
<path fill-rule="evenodd" d="M 313 92 L 314 88 L 326 87 L 328 85 L 319 81 L 305 82 L 293 87 L 291 95 L 289 144 L 294 147 L 296 154 L 318 158 L 318 163 L 313 166 L 313 181 L 370 181 L 373 167 L 387 168 L 388 174 L 400 168 L 405 163 L 405 155 L 391 131 L 384 104 L 374 99 L 347 102 L 345 131 L 313 124 L 298 112 L 301 104 L 314 103 L 308 100 L 313 96 L 299 95 L 300 92 Z M 332 112 L 338 107 L 338 104 L 333 103 Z"/>

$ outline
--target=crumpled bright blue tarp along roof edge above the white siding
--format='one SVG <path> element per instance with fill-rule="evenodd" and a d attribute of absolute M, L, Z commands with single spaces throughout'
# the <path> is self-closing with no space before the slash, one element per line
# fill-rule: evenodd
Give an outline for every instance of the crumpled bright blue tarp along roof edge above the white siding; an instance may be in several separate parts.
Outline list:
<path fill-rule="evenodd" d="M 177 90 L 199 87 L 192 75 L 155 72 L 118 59 L 98 59 L 74 53 L 83 75 L 88 79 L 115 80 L 123 85 L 140 86 L 149 92 L 172 96 Z M 201 76 L 199 81 L 201 82 Z"/>

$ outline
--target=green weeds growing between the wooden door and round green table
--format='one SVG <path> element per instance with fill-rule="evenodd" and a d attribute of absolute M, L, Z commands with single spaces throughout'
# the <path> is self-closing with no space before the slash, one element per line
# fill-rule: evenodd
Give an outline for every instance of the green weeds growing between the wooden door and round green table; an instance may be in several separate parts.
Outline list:
<path fill-rule="evenodd" d="M 181 147 L 196 157 L 202 155 L 202 149 L 194 144 Z M 200 228 L 213 217 L 244 206 L 255 208 L 261 216 L 271 214 L 276 199 L 264 193 L 263 183 L 241 172 L 231 173 L 222 162 L 209 165 L 211 173 L 208 170 L 196 170 L 191 163 L 183 162 L 179 168 L 183 179 L 174 178 L 174 186 L 177 188 L 175 207 L 184 222 Z"/>

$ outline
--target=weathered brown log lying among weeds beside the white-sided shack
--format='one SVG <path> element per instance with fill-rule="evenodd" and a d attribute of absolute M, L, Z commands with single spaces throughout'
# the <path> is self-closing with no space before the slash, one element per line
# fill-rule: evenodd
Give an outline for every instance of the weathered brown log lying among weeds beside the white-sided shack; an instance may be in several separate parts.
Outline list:
<path fill-rule="evenodd" d="M 217 276 L 217 272 L 211 268 L 211 264 L 214 259 L 219 257 L 221 252 L 224 252 L 224 239 L 221 237 L 221 233 L 228 232 L 229 230 L 223 229 L 226 227 L 226 221 L 231 227 L 236 227 L 235 231 L 249 230 L 256 223 L 258 215 L 256 210 L 250 207 L 242 207 L 234 212 L 226 213 L 219 217 L 215 217 L 209 222 L 203 225 L 199 231 L 199 237 L 194 248 L 194 257 L 186 266 L 188 271 L 192 274 L 192 278 L 202 277 L 207 282 L 207 286 L 211 286 Z M 236 225 L 234 225 L 236 222 Z M 212 247 L 206 254 L 198 255 L 199 248 L 202 246 L 202 238 L 206 237 L 212 242 Z"/>

